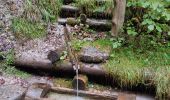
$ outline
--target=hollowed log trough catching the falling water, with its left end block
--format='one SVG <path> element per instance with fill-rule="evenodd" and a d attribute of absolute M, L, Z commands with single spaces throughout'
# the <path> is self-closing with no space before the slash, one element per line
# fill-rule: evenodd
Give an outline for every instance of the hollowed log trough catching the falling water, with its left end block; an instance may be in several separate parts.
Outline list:
<path fill-rule="evenodd" d="M 35 92 L 36 95 L 34 94 Z M 26 92 L 26 100 L 53 100 L 50 98 L 49 94 L 54 93 L 55 95 L 64 94 L 64 95 L 73 95 L 76 97 L 77 91 L 74 89 L 63 88 L 63 87 L 51 87 L 48 84 L 35 83 L 28 88 Z M 108 93 L 95 93 L 90 91 L 79 90 L 79 97 L 86 97 L 89 99 L 102 99 L 102 100 L 117 100 L 118 95 L 108 94 Z M 61 98 L 56 98 L 61 99 Z"/>

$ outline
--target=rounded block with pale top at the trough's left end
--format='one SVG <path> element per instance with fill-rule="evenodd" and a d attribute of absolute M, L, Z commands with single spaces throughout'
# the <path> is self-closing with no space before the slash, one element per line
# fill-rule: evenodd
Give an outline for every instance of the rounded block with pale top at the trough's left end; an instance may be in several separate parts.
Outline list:
<path fill-rule="evenodd" d="M 32 84 L 26 92 L 26 100 L 34 100 L 43 98 L 50 90 L 51 86 L 43 83 Z"/>

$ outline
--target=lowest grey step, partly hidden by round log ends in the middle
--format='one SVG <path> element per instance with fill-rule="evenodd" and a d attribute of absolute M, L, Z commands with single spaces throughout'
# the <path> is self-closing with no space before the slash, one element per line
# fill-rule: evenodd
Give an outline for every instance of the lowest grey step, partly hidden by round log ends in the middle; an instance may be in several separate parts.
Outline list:
<path fill-rule="evenodd" d="M 69 18 L 69 19 L 74 19 L 74 23 L 76 21 L 75 18 Z M 59 18 L 58 19 L 58 24 L 63 25 L 63 24 L 70 24 L 68 23 L 67 18 Z M 77 22 L 79 23 L 79 22 Z M 97 30 L 97 31 L 110 31 L 111 30 L 111 20 L 99 20 L 99 19 L 90 19 L 88 18 L 86 21 L 86 24 L 89 25 L 91 29 Z"/>

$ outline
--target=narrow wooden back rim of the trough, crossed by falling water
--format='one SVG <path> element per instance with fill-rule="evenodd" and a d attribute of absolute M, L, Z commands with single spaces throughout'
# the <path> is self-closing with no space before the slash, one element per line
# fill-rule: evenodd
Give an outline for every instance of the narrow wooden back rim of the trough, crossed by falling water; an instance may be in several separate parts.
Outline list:
<path fill-rule="evenodd" d="M 51 92 L 71 94 L 71 95 L 77 94 L 77 91 L 74 89 L 68 89 L 68 88 L 62 88 L 62 87 L 52 87 Z M 111 95 L 107 93 L 95 93 L 95 92 L 82 91 L 82 90 L 79 90 L 79 96 L 90 97 L 93 99 L 100 99 L 100 100 L 105 100 L 105 99 L 106 100 L 117 100 L 117 95 Z"/>

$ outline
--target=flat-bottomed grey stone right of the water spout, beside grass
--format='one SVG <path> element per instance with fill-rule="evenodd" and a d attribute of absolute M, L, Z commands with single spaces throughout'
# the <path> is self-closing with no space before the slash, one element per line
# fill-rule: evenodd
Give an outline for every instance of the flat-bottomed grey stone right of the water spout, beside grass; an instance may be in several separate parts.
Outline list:
<path fill-rule="evenodd" d="M 85 63 L 101 63 L 109 58 L 109 54 L 94 47 L 85 47 L 79 54 L 79 59 Z"/>

